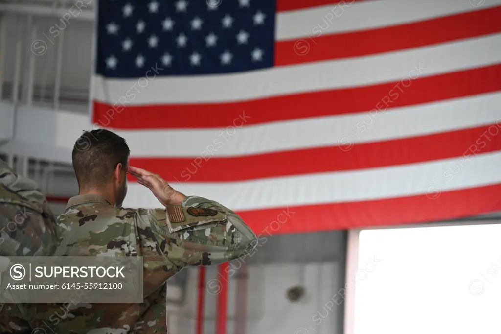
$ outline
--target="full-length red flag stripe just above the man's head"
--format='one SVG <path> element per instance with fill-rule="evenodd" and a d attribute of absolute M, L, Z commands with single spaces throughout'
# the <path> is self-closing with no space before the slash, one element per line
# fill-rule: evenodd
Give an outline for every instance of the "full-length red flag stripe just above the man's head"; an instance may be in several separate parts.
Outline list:
<path fill-rule="evenodd" d="M 500 20 L 501 21 L 501 20 Z M 416 73 L 417 75 L 417 73 Z M 371 85 L 235 103 L 127 106 L 94 102 L 94 122 L 116 129 L 215 128 L 403 107 L 501 90 L 501 64 Z M 396 86 L 399 85 L 399 86 Z M 393 92 L 393 94 L 391 94 Z M 391 94 L 391 95 L 390 95 Z M 391 96 L 391 98 L 390 98 Z M 363 98 L 361 98 L 363 97 Z M 112 117 L 109 117 L 111 115 Z M 207 117 L 217 114 L 217 117 Z"/>

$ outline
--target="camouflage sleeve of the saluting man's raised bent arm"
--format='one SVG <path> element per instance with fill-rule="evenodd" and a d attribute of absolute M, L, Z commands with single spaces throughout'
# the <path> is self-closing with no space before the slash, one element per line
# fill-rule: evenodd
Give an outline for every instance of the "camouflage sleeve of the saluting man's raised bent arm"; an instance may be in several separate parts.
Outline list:
<path fill-rule="evenodd" d="M 236 213 L 201 197 L 148 210 L 141 219 L 155 234 L 167 267 L 218 265 L 245 256 L 257 245 L 256 234 Z"/>

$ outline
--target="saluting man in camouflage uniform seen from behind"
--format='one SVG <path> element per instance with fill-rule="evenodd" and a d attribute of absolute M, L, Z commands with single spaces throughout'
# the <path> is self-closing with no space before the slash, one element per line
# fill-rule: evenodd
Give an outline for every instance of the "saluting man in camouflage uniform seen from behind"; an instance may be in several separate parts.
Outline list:
<path fill-rule="evenodd" d="M 50 321 L 56 304 L 39 304 L 32 327 L 56 333 L 166 333 L 166 281 L 188 266 L 218 265 L 248 254 L 256 234 L 217 202 L 185 196 L 156 174 L 129 166 L 124 138 L 108 130 L 86 131 L 72 153 L 79 195 L 58 218 L 56 255 L 142 256 L 143 303 L 85 303 Z M 127 174 L 162 204 L 157 209 L 122 208 Z M 61 312 L 61 311 L 60 311 Z M 50 332 L 49 329 L 46 329 Z"/>

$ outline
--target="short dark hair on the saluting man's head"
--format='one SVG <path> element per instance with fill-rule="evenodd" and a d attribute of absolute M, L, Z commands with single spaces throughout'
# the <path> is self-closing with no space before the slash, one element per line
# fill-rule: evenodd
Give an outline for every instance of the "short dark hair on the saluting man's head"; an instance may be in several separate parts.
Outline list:
<path fill-rule="evenodd" d="M 71 154 L 78 186 L 101 187 L 109 182 L 118 163 L 127 168 L 127 141 L 106 129 L 84 131 Z"/>

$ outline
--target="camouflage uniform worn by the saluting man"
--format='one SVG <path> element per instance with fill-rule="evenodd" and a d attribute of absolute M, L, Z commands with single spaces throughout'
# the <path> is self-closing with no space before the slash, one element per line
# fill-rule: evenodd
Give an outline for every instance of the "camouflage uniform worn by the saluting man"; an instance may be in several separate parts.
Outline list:
<path fill-rule="evenodd" d="M 142 256 L 144 302 L 38 304 L 31 314 L 36 314 L 32 328 L 43 328 L 40 333 L 166 333 L 169 277 L 187 266 L 244 256 L 257 243 L 233 211 L 194 196 L 180 206 L 148 210 L 116 208 L 97 195 L 76 196 L 58 224 L 62 238 L 55 255 Z"/>

